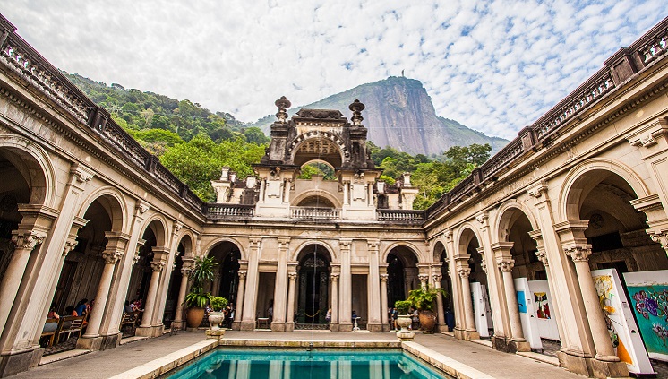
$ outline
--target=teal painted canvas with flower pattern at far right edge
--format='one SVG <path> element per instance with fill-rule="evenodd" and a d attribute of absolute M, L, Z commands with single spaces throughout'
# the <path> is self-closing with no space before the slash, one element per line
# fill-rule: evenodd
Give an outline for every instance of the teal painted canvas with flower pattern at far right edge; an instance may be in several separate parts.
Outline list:
<path fill-rule="evenodd" d="M 668 286 L 629 286 L 648 353 L 668 355 Z"/>

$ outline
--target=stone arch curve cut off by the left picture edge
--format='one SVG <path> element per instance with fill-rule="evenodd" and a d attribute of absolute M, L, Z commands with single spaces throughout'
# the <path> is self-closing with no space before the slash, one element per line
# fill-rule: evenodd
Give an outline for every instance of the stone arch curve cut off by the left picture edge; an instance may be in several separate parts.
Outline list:
<path fill-rule="evenodd" d="M 6 148 L 13 154 L 3 154 Z M 30 186 L 30 204 L 57 208 L 56 169 L 47 151 L 38 144 L 18 135 L 0 135 L 0 156 L 19 170 Z"/>

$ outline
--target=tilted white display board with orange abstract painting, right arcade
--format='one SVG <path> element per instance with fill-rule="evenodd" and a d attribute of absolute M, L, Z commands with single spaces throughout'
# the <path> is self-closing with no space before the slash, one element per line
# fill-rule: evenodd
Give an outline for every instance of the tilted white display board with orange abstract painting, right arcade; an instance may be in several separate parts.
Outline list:
<path fill-rule="evenodd" d="M 617 270 L 595 270 L 592 271 L 592 278 L 608 331 L 613 343 L 617 345 L 617 357 L 626 363 L 629 373 L 654 374 Z"/>

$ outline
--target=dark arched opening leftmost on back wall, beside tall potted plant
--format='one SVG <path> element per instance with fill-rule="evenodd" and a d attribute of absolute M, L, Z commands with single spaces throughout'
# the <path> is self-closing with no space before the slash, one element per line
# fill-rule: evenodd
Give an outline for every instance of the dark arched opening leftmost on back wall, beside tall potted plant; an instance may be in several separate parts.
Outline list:
<path fill-rule="evenodd" d="M 212 283 L 211 293 L 225 297 L 230 303 L 236 303 L 236 292 L 239 286 L 239 260 L 241 251 L 233 242 L 225 241 L 215 245 L 209 256 L 216 258 L 218 271 Z"/>

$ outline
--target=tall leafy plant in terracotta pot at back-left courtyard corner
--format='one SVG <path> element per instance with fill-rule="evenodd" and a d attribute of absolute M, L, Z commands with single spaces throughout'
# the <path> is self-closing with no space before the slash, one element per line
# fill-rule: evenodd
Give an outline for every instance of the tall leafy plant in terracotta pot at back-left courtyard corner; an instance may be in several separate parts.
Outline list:
<path fill-rule="evenodd" d="M 211 293 L 204 291 L 204 285 L 213 281 L 218 262 L 214 258 L 206 257 L 195 258 L 195 268 L 191 274 L 193 285 L 190 292 L 185 295 L 185 306 L 188 312 L 185 315 L 185 321 L 189 328 L 197 328 L 204 319 L 204 306 L 211 301 Z"/>

